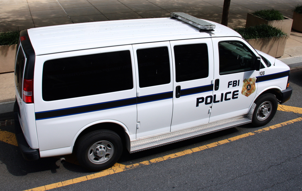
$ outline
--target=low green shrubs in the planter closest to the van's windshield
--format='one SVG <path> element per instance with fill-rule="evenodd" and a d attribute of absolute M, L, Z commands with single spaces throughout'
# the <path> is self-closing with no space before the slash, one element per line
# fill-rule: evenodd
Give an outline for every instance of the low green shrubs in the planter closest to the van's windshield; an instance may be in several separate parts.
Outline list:
<path fill-rule="evenodd" d="M 286 34 L 282 32 L 280 29 L 266 24 L 255 25 L 246 28 L 235 28 L 234 31 L 241 34 L 241 36 L 246 40 L 286 36 Z"/>

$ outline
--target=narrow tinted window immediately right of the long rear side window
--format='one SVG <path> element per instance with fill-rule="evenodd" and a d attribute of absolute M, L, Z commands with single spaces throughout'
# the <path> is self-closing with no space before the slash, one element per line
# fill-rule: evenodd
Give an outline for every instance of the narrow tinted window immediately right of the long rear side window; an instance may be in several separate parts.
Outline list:
<path fill-rule="evenodd" d="M 170 83 L 170 61 L 168 47 L 137 50 L 140 87 Z"/>

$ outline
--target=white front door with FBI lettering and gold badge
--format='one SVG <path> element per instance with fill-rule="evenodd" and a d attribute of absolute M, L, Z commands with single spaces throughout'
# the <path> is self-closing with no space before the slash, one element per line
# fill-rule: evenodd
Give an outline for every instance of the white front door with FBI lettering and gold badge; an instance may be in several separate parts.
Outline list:
<path fill-rule="evenodd" d="M 210 122 L 246 114 L 256 92 L 255 50 L 241 38 L 213 38 L 214 95 Z M 219 55 L 219 56 L 218 56 Z"/>

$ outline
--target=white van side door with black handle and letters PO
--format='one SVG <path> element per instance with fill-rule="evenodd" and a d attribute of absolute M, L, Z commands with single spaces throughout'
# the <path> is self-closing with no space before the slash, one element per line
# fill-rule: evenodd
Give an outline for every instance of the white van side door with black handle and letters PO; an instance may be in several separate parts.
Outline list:
<path fill-rule="evenodd" d="M 210 38 L 171 41 L 173 117 L 171 131 L 209 122 L 213 96 L 213 47 Z"/>

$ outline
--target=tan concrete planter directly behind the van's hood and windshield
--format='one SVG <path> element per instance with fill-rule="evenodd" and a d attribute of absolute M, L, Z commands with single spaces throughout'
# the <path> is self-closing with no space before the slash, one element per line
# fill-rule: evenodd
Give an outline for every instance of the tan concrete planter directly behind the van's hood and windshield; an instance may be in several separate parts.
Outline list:
<path fill-rule="evenodd" d="M 260 38 L 260 39 L 250 39 L 246 40 L 257 50 L 260 50 L 272 57 L 281 57 L 284 53 L 284 48 L 286 44 L 286 36 L 277 38 Z"/>

